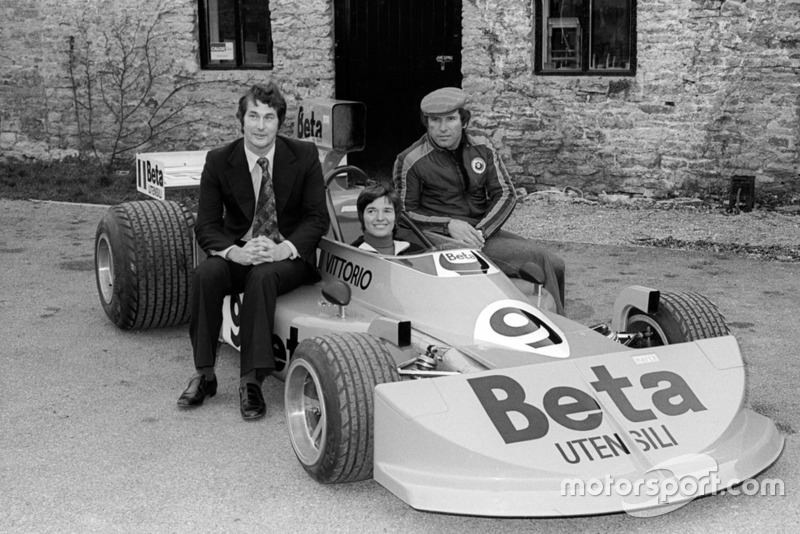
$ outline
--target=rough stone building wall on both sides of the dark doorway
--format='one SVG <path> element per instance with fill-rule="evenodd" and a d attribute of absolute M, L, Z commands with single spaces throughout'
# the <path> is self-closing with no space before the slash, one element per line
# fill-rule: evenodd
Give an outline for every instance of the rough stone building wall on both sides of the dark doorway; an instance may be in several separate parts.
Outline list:
<path fill-rule="evenodd" d="M 0 157 L 87 151 L 85 74 L 102 67 L 97 50 L 119 50 L 95 48 L 88 69 L 81 51 L 87 42 L 98 47 L 130 4 L 4 0 Z M 270 2 L 271 71 L 201 70 L 196 0 L 138 4 L 133 14 L 145 27 L 161 14 L 164 70 L 128 121 L 146 129 L 147 113 L 157 109 L 161 117 L 179 110 L 183 123 L 139 151 L 208 148 L 237 135 L 233 103 L 253 80 L 281 81 L 287 132 L 298 101 L 335 95 L 331 0 Z M 535 6 L 463 1 L 462 87 L 473 123 L 501 147 L 519 184 L 660 196 L 723 188 L 748 175 L 758 188 L 800 191 L 800 0 L 638 0 L 630 77 L 536 75 Z M 177 86 L 185 87 L 167 98 Z M 94 148 L 105 152 L 120 121 L 100 108 L 94 105 L 91 127 L 99 132 Z"/>

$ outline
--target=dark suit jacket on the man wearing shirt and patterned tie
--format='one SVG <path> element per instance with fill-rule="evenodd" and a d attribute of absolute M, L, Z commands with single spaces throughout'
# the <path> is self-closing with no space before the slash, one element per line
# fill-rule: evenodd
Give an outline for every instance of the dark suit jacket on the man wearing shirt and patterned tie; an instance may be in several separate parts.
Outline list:
<path fill-rule="evenodd" d="M 272 167 L 281 235 L 315 265 L 317 244 L 330 224 L 317 147 L 279 135 Z M 255 206 L 244 139 L 209 151 L 200 178 L 195 225 L 203 250 L 221 251 L 236 244 L 253 224 Z"/>

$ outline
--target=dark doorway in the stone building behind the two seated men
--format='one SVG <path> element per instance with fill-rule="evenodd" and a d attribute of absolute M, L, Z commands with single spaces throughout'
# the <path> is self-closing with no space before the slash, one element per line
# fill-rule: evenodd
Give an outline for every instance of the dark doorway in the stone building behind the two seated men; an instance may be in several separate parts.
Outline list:
<path fill-rule="evenodd" d="M 334 0 L 336 98 L 367 107 L 366 146 L 348 162 L 389 177 L 423 133 L 419 101 L 461 87 L 461 0 Z"/>

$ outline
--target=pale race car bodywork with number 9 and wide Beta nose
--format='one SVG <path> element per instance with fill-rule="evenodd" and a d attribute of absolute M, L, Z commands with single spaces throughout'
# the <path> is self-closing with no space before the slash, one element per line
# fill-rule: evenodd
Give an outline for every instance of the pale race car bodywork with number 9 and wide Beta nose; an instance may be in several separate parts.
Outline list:
<path fill-rule="evenodd" d="M 470 249 L 388 257 L 328 236 L 318 269 L 320 282 L 279 298 L 279 378 L 300 341 L 332 332 L 377 335 L 398 365 L 434 345 L 445 360 L 462 362 L 454 367 L 463 374 L 375 390 L 375 479 L 415 508 L 525 517 L 641 512 L 755 476 L 783 448 L 774 423 L 744 407 L 745 369 L 732 336 L 630 349 L 538 309 Z M 331 284 L 349 288 L 346 306 L 322 298 Z M 222 338 L 234 346 L 240 299 L 227 300 L 224 312 Z M 402 346 L 385 334 L 401 323 L 411 330 Z M 605 477 L 640 485 L 718 480 L 671 496 L 564 494 L 565 482 Z"/>

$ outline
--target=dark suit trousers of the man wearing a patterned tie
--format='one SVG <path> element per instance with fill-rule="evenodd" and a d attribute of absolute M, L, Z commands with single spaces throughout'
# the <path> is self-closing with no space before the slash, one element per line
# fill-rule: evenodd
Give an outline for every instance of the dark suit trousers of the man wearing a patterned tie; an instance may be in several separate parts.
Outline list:
<path fill-rule="evenodd" d="M 316 279 L 316 270 L 300 258 L 240 265 L 209 256 L 194 272 L 189 336 L 197 369 L 216 363 L 226 295 L 244 293 L 239 310 L 241 376 L 275 369 L 272 330 L 279 295 Z"/>

